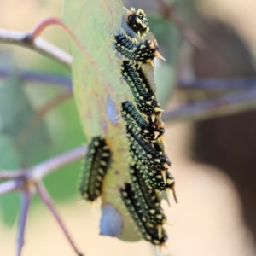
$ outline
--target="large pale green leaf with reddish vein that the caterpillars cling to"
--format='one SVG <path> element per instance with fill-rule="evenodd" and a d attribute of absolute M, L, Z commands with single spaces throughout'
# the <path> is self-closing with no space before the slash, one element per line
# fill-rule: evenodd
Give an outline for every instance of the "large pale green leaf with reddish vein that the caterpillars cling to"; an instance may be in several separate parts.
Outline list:
<path fill-rule="evenodd" d="M 113 162 L 103 183 L 102 207 L 110 204 L 114 208 L 112 212 L 119 212 L 121 216 L 122 230 L 116 236 L 125 241 L 138 241 L 141 236 L 119 196 L 119 187 L 129 179 L 129 158 L 126 156 L 127 142 L 120 138 L 125 127 L 115 118 L 120 102 L 125 101 L 131 92 L 119 79 L 113 35 L 120 32 L 124 13 L 119 0 L 64 0 L 62 20 L 73 33 L 74 96 L 85 136 L 88 141 L 99 135 L 106 137 L 113 151 Z M 102 234 L 108 235 L 106 232 Z"/>

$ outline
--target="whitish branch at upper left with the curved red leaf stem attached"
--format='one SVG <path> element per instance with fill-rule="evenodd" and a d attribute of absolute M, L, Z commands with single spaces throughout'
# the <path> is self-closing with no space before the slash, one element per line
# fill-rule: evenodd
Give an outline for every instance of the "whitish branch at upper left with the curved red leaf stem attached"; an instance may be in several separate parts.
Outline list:
<path fill-rule="evenodd" d="M 73 58 L 66 51 L 56 47 L 54 44 L 50 44 L 43 38 L 33 38 L 33 40 L 28 40 L 30 35 L 31 33 L 11 32 L 0 29 L 0 43 L 16 44 L 28 49 L 33 49 L 40 54 L 48 56 L 54 61 L 61 62 L 67 67 L 71 66 Z"/>

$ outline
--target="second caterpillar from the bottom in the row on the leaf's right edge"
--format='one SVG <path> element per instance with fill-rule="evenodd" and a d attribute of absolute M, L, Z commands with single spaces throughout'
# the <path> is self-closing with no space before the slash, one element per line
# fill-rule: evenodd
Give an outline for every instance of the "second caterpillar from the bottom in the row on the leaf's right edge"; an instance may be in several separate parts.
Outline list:
<path fill-rule="evenodd" d="M 154 189 L 150 189 L 137 168 L 133 164 L 129 168 L 131 187 L 137 199 L 137 207 L 141 208 L 152 224 L 166 224 L 166 215 L 160 207 L 160 200 Z"/>

